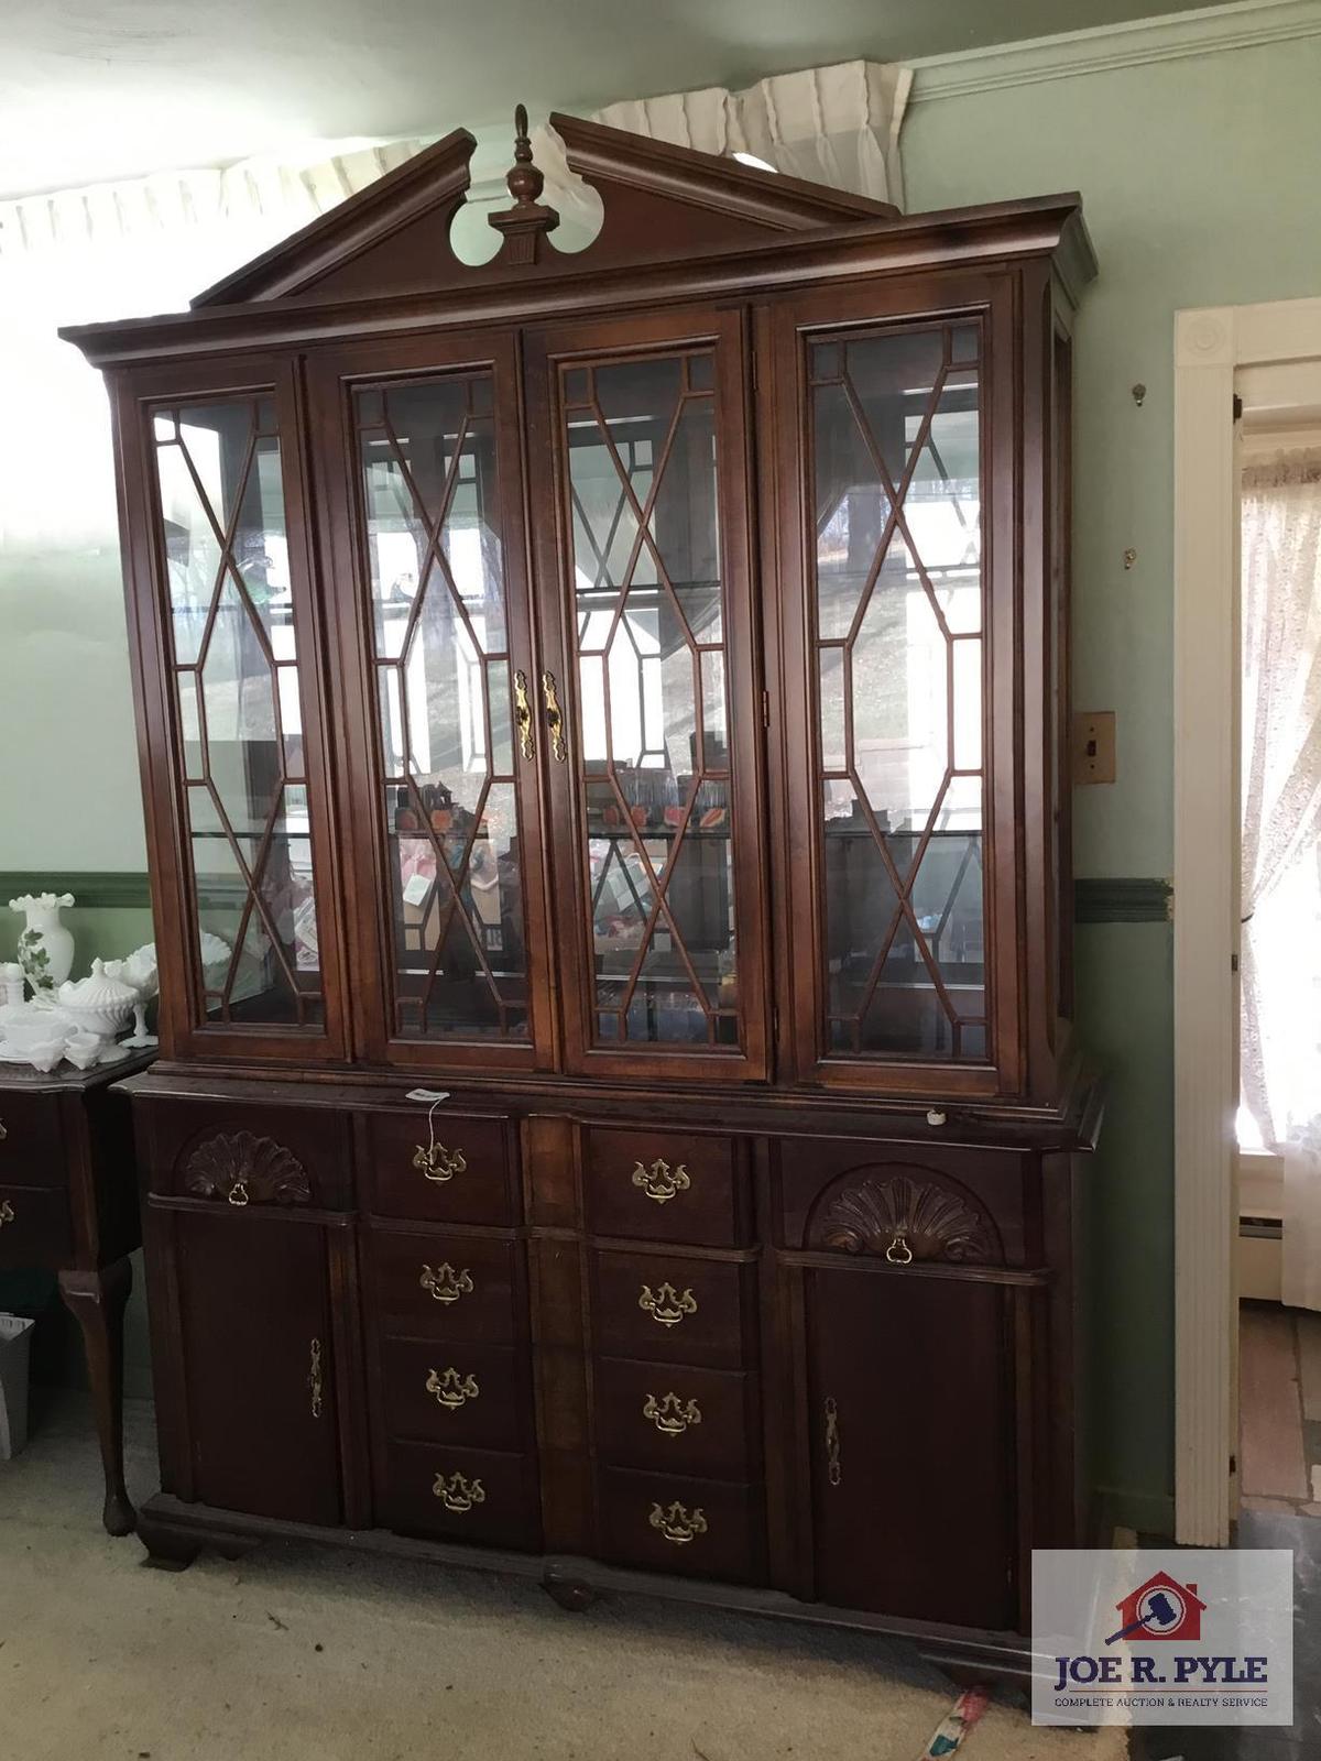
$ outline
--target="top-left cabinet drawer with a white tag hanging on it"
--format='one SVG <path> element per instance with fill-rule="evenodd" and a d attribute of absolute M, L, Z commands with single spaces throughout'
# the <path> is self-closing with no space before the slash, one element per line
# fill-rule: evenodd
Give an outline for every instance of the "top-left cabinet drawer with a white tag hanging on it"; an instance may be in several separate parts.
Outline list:
<path fill-rule="evenodd" d="M 509 1122 L 428 1108 L 368 1113 L 368 1205 L 380 1217 L 416 1222 L 520 1220 Z"/>

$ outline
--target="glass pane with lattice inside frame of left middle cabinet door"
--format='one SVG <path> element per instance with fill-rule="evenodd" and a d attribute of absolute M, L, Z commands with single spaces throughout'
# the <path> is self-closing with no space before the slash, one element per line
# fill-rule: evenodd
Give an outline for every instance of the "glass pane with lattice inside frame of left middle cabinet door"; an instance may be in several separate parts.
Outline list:
<path fill-rule="evenodd" d="M 490 375 L 356 394 L 395 1032 L 527 1039 Z"/>

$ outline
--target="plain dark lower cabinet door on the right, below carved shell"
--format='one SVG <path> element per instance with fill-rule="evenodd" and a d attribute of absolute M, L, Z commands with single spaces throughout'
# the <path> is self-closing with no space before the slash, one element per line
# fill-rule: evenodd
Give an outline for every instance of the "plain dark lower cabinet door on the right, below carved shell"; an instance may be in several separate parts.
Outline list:
<path fill-rule="evenodd" d="M 1006 1291 L 881 1271 L 805 1277 L 819 1599 L 1009 1627 Z"/>

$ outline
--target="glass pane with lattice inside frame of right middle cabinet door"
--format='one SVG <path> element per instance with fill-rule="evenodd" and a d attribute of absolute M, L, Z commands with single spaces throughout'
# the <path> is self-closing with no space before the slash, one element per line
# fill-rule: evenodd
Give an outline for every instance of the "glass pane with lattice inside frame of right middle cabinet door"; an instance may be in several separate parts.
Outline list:
<path fill-rule="evenodd" d="M 736 1044 L 710 350 L 564 373 L 595 1037 Z"/>

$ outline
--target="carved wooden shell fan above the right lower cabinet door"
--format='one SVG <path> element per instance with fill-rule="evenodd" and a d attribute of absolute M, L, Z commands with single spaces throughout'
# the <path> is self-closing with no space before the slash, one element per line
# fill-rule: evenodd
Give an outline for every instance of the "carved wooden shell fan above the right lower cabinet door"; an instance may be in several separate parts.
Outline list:
<path fill-rule="evenodd" d="M 907 1175 L 847 1180 L 812 1219 L 810 1247 L 912 1259 L 999 1261 L 995 1226 L 970 1199 Z"/>

